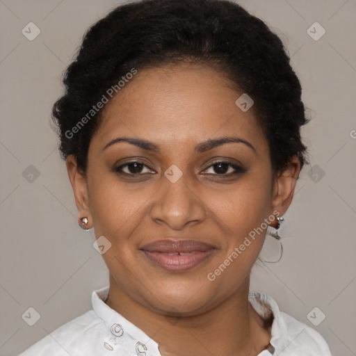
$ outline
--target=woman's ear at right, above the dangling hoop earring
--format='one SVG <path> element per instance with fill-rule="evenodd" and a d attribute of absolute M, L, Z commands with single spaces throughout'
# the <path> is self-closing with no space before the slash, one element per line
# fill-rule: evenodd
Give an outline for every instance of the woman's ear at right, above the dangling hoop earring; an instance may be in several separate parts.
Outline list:
<path fill-rule="evenodd" d="M 279 211 L 279 216 L 286 213 L 293 200 L 299 173 L 300 161 L 297 156 L 293 156 L 286 169 L 275 177 L 271 211 Z"/>

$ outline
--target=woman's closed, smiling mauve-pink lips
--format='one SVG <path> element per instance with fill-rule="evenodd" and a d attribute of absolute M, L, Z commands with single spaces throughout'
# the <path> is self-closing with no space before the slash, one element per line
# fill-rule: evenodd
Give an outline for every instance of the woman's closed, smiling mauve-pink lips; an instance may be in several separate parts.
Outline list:
<path fill-rule="evenodd" d="M 216 251 L 212 245 L 195 240 L 159 240 L 144 245 L 145 256 L 170 272 L 184 272 L 206 261 Z"/>

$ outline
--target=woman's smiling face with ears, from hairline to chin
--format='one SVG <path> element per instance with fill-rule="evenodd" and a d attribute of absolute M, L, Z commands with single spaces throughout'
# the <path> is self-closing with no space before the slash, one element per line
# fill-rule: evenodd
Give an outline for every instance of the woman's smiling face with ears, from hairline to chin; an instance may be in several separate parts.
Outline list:
<path fill-rule="evenodd" d="M 248 285 L 298 167 L 275 179 L 252 108 L 235 104 L 241 94 L 209 67 L 176 65 L 139 71 L 106 104 L 86 180 L 67 167 L 79 215 L 111 243 L 111 289 L 193 315 Z"/>

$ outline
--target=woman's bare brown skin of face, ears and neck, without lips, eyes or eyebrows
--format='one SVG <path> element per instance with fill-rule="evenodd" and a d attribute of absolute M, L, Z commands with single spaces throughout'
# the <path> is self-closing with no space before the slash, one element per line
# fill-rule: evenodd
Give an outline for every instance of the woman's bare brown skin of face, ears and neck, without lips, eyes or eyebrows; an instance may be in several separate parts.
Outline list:
<path fill-rule="evenodd" d="M 270 330 L 248 302 L 250 270 L 266 231 L 216 280 L 207 279 L 264 218 L 286 212 L 300 172 L 294 157 L 282 174 L 274 174 L 253 109 L 243 112 L 235 104 L 242 93 L 206 66 L 139 71 L 106 104 L 90 142 L 86 175 L 74 156 L 67 158 L 79 216 L 87 216 L 95 236 L 112 244 L 102 255 L 110 272 L 106 304 L 159 343 L 163 356 L 257 355 L 270 341 Z M 225 136 L 254 148 L 225 143 L 194 150 Z M 103 152 L 118 137 L 149 140 L 160 151 L 120 142 Z M 131 171 L 124 168 L 127 175 L 114 171 L 131 161 L 147 165 L 140 176 L 129 175 L 132 165 Z M 228 177 L 234 168 L 221 173 L 213 165 L 219 161 L 245 172 Z M 173 164 L 182 172 L 175 183 L 164 175 Z M 191 270 L 168 272 L 139 250 L 167 236 L 204 241 L 216 250 Z"/>

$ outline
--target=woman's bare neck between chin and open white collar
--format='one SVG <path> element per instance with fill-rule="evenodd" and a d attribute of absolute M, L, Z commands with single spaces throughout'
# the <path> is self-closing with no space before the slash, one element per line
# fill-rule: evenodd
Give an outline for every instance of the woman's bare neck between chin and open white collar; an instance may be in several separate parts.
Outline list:
<path fill-rule="evenodd" d="M 248 302 L 249 284 L 248 278 L 229 299 L 208 312 L 175 318 L 136 302 L 110 276 L 106 304 L 154 339 L 162 356 L 256 356 L 268 346 L 270 332 Z"/>

